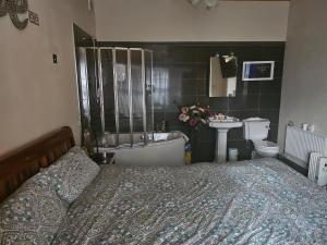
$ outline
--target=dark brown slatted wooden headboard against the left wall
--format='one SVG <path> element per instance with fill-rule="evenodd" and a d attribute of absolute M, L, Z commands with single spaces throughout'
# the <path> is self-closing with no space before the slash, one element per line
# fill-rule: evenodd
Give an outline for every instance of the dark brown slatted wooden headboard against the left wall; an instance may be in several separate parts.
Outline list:
<path fill-rule="evenodd" d="M 0 203 L 26 180 L 75 145 L 72 130 L 61 127 L 0 157 Z"/>

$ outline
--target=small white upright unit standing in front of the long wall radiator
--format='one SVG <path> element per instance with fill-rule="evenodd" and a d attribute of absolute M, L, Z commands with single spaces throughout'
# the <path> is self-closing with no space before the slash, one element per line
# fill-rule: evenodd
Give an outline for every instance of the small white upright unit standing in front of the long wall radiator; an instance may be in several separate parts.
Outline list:
<path fill-rule="evenodd" d="M 322 154 L 312 152 L 310 155 L 307 177 L 317 185 L 327 185 L 327 158 Z"/>

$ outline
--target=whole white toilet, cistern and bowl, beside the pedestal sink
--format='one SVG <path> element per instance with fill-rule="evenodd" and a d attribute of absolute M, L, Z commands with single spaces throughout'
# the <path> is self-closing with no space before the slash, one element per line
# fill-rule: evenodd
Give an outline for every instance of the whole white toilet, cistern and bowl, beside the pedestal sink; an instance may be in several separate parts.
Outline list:
<path fill-rule="evenodd" d="M 265 140 L 268 137 L 270 121 L 261 118 L 243 120 L 243 135 L 254 145 L 253 158 L 276 158 L 279 146 L 276 143 Z"/>

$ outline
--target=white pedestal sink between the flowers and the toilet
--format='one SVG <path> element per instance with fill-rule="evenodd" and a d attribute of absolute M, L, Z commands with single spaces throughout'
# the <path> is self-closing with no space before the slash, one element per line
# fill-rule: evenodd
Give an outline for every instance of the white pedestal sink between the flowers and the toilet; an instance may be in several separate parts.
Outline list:
<path fill-rule="evenodd" d="M 209 121 L 209 126 L 217 130 L 215 162 L 226 162 L 227 154 L 227 133 L 234 127 L 242 127 L 243 123 L 239 121 Z"/>

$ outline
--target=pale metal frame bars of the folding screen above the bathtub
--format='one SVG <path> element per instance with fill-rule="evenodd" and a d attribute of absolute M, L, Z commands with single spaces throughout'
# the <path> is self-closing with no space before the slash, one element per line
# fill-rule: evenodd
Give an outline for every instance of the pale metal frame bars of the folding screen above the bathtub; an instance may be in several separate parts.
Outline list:
<path fill-rule="evenodd" d="M 104 101 L 104 74 L 102 74 L 102 62 L 101 62 L 101 51 L 111 51 L 112 54 L 112 72 L 113 72 L 113 102 L 114 102 L 114 124 L 116 124 L 116 146 L 120 147 L 120 109 L 119 109 L 119 90 L 118 90 L 118 72 L 117 72 L 117 51 L 126 51 L 126 75 L 128 75 L 128 88 L 129 88 L 129 124 L 130 124 L 130 147 L 134 145 L 134 117 L 133 117 L 133 89 L 132 89 L 132 62 L 131 62 L 131 53 L 132 51 L 141 51 L 142 56 L 142 71 L 141 71 L 141 82 L 142 82 L 142 118 L 143 118 L 143 143 L 144 146 L 148 144 L 149 137 L 148 134 L 154 134 L 154 98 L 153 98 L 153 51 L 149 49 L 143 48 L 126 48 L 126 47 L 80 47 L 77 49 L 78 52 L 78 71 L 80 71 L 80 81 L 78 86 L 82 93 L 80 94 L 81 100 L 81 114 L 85 117 L 87 123 L 89 124 L 92 121 L 90 117 L 90 102 L 89 102 L 89 79 L 88 79 L 88 66 L 87 66 L 87 49 L 94 50 L 94 69 L 95 69 L 95 82 L 96 82 L 96 97 L 100 107 L 100 124 L 101 124 L 101 145 L 105 145 L 105 135 L 112 134 L 112 132 L 106 131 L 106 119 L 105 119 L 105 101 Z M 150 63 L 150 86 L 146 83 L 146 64 L 145 64 L 145 53 L 148 52 L 149 63 Z M 81 73 L 84 74 L 81 74 Z M 150 89 L 150 130 L 148 130 L 147 124 L 147 105 L 146 105 L 146 91 Z M 84 108 L 85 102 L 87 102 L 87 108 Z M 140 133 L 140 132 L 137 132 Z M 84 132 L 83 132 L 84 135 Z M 154 138 L 154 136 L 152 137 Z M 97 144 L 99 140 L 96 140 Z"/>

